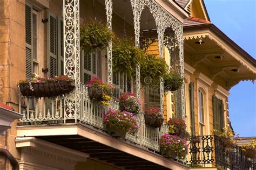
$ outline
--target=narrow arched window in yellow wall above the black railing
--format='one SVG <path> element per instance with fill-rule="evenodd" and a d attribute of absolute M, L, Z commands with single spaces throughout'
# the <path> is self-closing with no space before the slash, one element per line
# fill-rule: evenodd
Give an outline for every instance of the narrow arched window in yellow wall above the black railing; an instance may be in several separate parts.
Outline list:
<path fill-rule="evenodd" d="M 204 135 L 205 125 L 205 111 L 204 111 L 204 94 L 201 90 L 198 90 L 198 110 L 199 110 L 199 133 Z"/>

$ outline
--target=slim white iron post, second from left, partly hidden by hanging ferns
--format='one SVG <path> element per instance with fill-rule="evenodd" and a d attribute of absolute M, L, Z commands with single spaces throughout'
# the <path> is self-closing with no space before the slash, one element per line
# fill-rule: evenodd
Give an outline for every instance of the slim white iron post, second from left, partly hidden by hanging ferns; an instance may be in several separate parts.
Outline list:
<path fill-rule="evenodd" d="M 112 0 L 105 0 L 107 27 L 112 30 Z M 112 41 L 107 46 L 107 83 L 112 84 Z"/>

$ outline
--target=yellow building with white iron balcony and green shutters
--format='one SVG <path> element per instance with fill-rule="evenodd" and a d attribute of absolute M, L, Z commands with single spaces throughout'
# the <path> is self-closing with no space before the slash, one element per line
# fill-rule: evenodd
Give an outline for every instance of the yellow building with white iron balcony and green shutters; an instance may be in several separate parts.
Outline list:
<path fill-rule="evenodd" d="M 80 51 L 79 25 L 91 19 L 164 58 L 184 76 L 184 86 L 163 93 L 160 83 L 157 91 L 147 91 L 141 88 L 139 65 L 131 79 L 113 73 L 111 43 L 90 55 Z M 0 0 L 0 47 L 0 122 L 5 123 L 0 124 L 0 169 L 233 166 L 229 155 L 228 164 L 217 155 L 213 129 L 231 128 L 228 90 L 241 80 L 254 80 L 256 62 L 210 22 L 203 0 Z M 17 82 L 32 73 L 68 75 L 76 88 L 66 96 L 22 96 Z M 106 108 L 90 100 L 85 86 L 93 75 L 113 83 L 115 97 L 135 93 L 142 111 L 157 105 L 166 121 L 184 118 L 187 131 L 200 136 L 200 142 L 190 145 L 186 160 L 167 159 L 158 143 L 165 126 L 150 128 L 143 115 L 138 116 L 138 133 L 111 137 L 103 125 Z M 110 107 L 117 109 L 118 102 Z M 201 147 L 206 143 L 210 155 Z"/>

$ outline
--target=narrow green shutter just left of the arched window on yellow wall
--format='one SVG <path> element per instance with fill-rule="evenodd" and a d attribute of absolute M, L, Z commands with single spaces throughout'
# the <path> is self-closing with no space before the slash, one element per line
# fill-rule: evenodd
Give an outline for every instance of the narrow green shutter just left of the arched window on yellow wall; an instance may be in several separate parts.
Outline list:
<path fill-rule="evenodd" d="M 194 82 L 190 83 L 190 119 L 191 119 L 191 133 L 192 136 L 196 135 L 195 121 L 194 121 Z"/>

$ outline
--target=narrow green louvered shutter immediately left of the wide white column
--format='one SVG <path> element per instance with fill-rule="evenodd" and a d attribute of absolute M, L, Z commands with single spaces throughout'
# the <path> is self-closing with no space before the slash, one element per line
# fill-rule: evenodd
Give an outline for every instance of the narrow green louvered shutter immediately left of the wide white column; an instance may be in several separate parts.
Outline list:
<path fill-rule="evenodd" d="M 63 18 L 58 17 L 58 75 L 64 75 L 64 35 Z"/>

